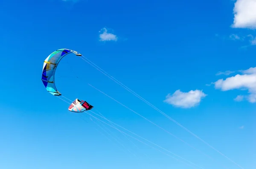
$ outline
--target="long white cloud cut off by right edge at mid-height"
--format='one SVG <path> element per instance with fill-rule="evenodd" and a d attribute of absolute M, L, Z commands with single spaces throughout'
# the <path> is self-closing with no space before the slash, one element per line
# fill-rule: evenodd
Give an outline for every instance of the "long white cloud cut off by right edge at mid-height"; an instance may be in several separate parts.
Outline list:
<path fill-rule="evenodd" d="M 256 67 L 240 71 L 244 74 L 236 74 L 236 76 L 227 79 L 219 79 L 215 84 L 215 89 L 228 91 L 233 89 L 247 90 L 249 95 L 245 96 L 251 102 L 256 102 Z"/>

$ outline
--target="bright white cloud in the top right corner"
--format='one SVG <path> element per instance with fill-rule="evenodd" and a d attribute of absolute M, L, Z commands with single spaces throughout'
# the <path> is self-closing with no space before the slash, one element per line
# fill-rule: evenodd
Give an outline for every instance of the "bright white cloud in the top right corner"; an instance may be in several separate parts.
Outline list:
<path fill-rule="evenodd" d="M 237 0 L 234 12 L 234 28 L 256 29 L 256 0 Z"/>

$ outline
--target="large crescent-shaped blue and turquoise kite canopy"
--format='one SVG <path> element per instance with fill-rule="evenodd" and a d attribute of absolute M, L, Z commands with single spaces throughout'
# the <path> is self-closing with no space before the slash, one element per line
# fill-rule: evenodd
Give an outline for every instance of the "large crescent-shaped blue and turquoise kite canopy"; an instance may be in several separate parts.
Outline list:
<path fill-rule="evenodd" d="M 70 49 L 58 49 L 55 52 L 52 52 L 45 60 L 42 72 L 42 81 L 44 83 L 45 88 L 52 95 L 60 96 L 61 93 L 57 90 L 55 86 L 55 71 L 58 63 L 61 59 L 67 54 L 74 53 L 77 56 L 82 56 L 80 53 L 70 50 Z"/>

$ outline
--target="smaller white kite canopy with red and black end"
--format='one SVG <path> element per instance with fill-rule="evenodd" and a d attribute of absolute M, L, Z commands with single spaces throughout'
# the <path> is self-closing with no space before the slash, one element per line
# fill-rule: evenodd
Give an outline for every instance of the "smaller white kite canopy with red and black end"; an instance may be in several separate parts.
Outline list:
<path fill-rule="evenodd" d="M 90 105 L 89 103 L 87 103 L 86 101 L 76 99 L 75 101 L 73 101 L 72 104 L 70 104 L 68 110 L 70 112 L 80 113 L 80 112 L 84 112 L 86 110 L 90 110 L 92 108 L 93 108 L 93 106 Z"/>

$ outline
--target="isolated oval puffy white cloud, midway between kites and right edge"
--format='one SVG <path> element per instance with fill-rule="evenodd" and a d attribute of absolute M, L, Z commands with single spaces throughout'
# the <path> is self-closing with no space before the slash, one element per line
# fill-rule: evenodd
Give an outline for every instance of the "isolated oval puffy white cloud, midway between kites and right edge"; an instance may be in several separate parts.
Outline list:
<path fill-rule="evenodd" d="M 202 90 L 191 90 L 189 92 L 176 90 L 172 95 L 168 94 L 164 102 L 176 107 L 191 108 L 198 105 L 201 99 L 206 96 L 207 95 Z"/>

